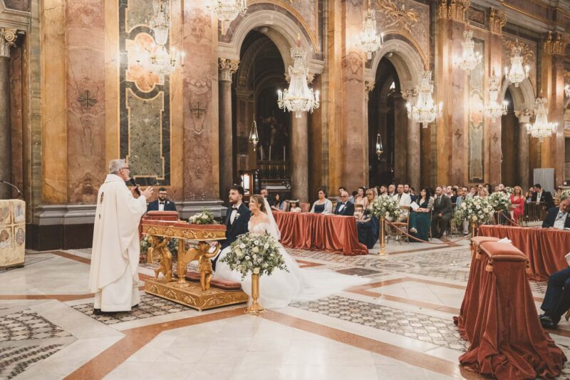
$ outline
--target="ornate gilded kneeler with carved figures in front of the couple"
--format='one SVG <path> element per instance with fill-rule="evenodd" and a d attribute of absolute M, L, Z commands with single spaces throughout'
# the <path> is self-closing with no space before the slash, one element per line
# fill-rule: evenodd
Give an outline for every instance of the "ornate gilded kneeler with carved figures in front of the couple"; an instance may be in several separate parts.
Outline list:
<path fill-rule="evenodd" d="M 158 277 L 158 274 L 162 273 L 164 277 L 145 279 L 145 292 L 184 304 L 200 312 L 205 309 L 243 304 L 248 301 L 249 297 L 242 289 L 224 290 L 209 286 L 212 277 L 212 267 L 209 260 L 212 253 L 208 252 L 210 246 L 207 242 L 224 240 L 225 225 L 191 225 L 187 222 L 168 220 L 142 220 L 141 225 L 144 235 L 178 240 L 178 279 L 172 279 L 168 270 L 169 267 L 172 268 L 172 255 L 167 250 L 166 245 L 159 242 L 158 239 L 153 240 L 151 248 L 153 252 L 149 252 L 149 255 L 153 255 L 154 250 L 158 250 L 161 266 L 155 270 L 155 274 Z M 185 240 L 198 242 L 197 248 L 193 247 L 186 250 Z M 194 260 L 199 262 L 201 277 L 199 283 L 189 282 L 185 279 L 187 264 Z"/>

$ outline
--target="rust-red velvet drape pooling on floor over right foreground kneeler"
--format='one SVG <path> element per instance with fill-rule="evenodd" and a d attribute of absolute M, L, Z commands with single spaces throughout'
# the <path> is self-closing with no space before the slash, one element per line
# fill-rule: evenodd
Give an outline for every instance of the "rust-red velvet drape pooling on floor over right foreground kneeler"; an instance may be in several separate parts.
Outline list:
<path fill-rule="evenodd" d="M 472 264 L 479 268 L 469 281 L 480 278 L 479 299 L 471 302 L 479 307 L 465 310 L 472 314 L 469 326 L 462 326 L 460 317 L 460 332 L 469 334 L 471 343 L 460 363 L 497 379 L 559 375 L 566 356 L 540 325 L 524 261 L 494 262 L 492 272 L 485 269 L 487 255 Z"/>

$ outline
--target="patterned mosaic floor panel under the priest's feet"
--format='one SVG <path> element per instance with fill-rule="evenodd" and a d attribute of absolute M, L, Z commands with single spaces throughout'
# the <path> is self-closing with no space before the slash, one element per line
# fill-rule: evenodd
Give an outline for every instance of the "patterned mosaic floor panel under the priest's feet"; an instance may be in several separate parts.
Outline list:
<path fill-rule="evenodd" d="M 140 294 L 140 304 L 134 307 L 131 312 L 119 312 L 116 314 L 93 314 L 93 302 L 87 304 L 78 304 L 73 306 L 74 309 L 86 314 L 88 317 L 97 319 L 104 324 L 115 324 L 120 322 L 135 321 L 150 317 L 158 317 L 165 314 L 173 314 L 177 312 L 185 312 L 191 310 L 190 307 L 170 302 L 167 299 L 156 297 L 151 294 Z"/>

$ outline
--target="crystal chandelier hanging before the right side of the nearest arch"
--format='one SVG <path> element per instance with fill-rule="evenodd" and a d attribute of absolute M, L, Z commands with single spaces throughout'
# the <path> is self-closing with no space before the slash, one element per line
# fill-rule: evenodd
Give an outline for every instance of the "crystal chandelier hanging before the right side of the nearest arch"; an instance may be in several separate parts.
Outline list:
<path fill-rule="evenodd" d="M 291 48 L 293 67 L 289 66 L 289 88 L 278 91 L 277 104 L 284 111 L 294 112 L 295 118 L 301 118 L 302 112 L 313 112 L 319 106 L 318 91 L 313 92 L 307 83 L 309 68 L 305 67 L 305 51 L 301 48 L 300 37 L 297 46 Z"/>

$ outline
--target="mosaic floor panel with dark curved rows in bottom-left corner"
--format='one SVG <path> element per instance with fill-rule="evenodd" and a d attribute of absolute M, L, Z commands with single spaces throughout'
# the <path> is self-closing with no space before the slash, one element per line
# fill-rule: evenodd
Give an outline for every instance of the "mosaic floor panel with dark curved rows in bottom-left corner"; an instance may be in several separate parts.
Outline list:
<path fill-rule="evenodd" d="M 0 379 L 11 379 L 37 363 L 61 350 L 65 344 L 48 346 L 19 346 L 0 349 Z"/>

